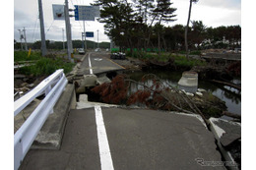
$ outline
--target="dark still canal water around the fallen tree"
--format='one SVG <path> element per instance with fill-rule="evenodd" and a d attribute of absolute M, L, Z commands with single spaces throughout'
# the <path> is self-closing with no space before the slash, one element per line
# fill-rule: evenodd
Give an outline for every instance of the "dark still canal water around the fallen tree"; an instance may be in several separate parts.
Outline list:
<path fill-rule="evenodd" d="M 130 76 L 130 79 L 140 82 L 142 77 L 146 74 L 155 74 L 161 79 L 163 83 L 168 85 L 177 86 L 179 79 L 182 76 L 182 72 L 168 72 L 168 71 L 157 71 L 151 70 L 149 72 L 134 72 L 127 74 Z M 234 79 L 233 83 L 239 84 L 240 78 Z M 209 92 L 212 92 L 214 95 L 219 97 L 225 102 L 227 111 L 235 114 L 241 115 L 241 93 L 240 91 L 226 86 L 226 85 L 217 85 L 207 81 L 199 81 L 198 87 L 204 88 Z M 132 85 L 132 92 L 136 91 L 140 86 Z M 224 119 L 229 119 L 226 116 L 223 116 Z"/>

